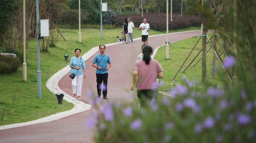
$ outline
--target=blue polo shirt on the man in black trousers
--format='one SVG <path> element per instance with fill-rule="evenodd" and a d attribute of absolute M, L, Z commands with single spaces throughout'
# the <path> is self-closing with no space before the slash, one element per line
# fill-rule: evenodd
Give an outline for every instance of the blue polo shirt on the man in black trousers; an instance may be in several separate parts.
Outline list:
<path fill-rule="evenodd" d="M 92 63 L 94 63 L 94 64 L 97 63 L 97 66 L 103 68 L 102 70 L 99 70 L 98 68 L 96 68 L 96 73 L 97 74 L 104 74 L 104 73 L 108 73 L 107 70 L 106 70 L 107 63 L 110 64 L 111 61 L 110 61 L 109 55 L 104 53 L 104 55 L 101 55 L 101 54 L 96 55 L 94 57 L 94 60 L 92 61 Z"/>

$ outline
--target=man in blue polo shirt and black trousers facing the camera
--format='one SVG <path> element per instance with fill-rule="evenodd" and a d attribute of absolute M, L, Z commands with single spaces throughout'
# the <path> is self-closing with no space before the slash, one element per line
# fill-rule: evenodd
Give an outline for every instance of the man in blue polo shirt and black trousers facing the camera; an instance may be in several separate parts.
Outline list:
<path fill-rule="evenodd" d="M 97 81 L 97 92 L 98 97 L 100 98 L 101 95 L 101 89 L 103 94 L 103 99 L 107 99 L 107 77 L 108 77 L 108 70 L 111 67 L 111 61 L 109 58 L 109 55 L 105 54 L 106 46 L 100 45 L 100 54 L 96 55 L 94 57 L 94 60 L 92 61 L 92 66 L 97 68 L 96 69 L 96 81 Z M 95 65 L 97 63 L 97 65 Z M 109 63 L 109 66 L 107 66 L 107 63 Z M 103 86 L 102 85 L 103 82 Z"/>

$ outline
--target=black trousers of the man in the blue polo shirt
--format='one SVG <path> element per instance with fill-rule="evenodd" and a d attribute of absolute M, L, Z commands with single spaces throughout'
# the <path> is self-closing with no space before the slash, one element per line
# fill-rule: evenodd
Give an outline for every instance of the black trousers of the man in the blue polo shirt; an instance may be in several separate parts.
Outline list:
<path fill-rule="evenodd" d="M 103 97 L 107 97 L 107 77 L 108 76 L 109 76 L 108 73 L 104 73 L 104 74 L 96 73 L 97 92 L 98 92 L 98 95 L 101 95 L 101 89 L 103 89 L 102 90 Z M 103 82 L 103 86 L 101 86 L 102 82 Z"/>

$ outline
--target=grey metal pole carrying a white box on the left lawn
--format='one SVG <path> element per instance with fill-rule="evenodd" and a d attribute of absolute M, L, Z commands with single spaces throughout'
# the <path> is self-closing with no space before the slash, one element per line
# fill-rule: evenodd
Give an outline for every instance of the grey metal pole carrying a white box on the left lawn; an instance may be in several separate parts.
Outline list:
<path fill-rule="evenodd" d="M 37 98 L 42 98 L 39 42 L 39 0 L 36 0 L 36 42 L 37 42 Z"/>

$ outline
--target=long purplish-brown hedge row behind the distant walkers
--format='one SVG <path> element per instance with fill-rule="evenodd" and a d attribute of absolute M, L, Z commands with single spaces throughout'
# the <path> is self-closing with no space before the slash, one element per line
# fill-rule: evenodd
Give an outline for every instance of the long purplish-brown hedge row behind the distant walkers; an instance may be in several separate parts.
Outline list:
<path fill-rule="evenodd" d="M 143 13 L 143 18 L 141 15 L 124 15 L 117 16 L 115 18 L 110 18 L 110 21 L 113 25 L 120 27 L 124 25 L 124 19 L 131 18 L 135 27 L 139 27 L 143 23 L 143 19 L 147 19 L 147 23 L 150 25 L 150 29 L 153 30 L 166 30 L 166 13 Z M 189 26 L 200 26 L 201 19 L 198 16 L 180 16 L 180 13 L 173 13 L 172 16 L 173 22 L 171 23 L 171 14 L 169 14 L 169 29 L 186 28 Z"/>

